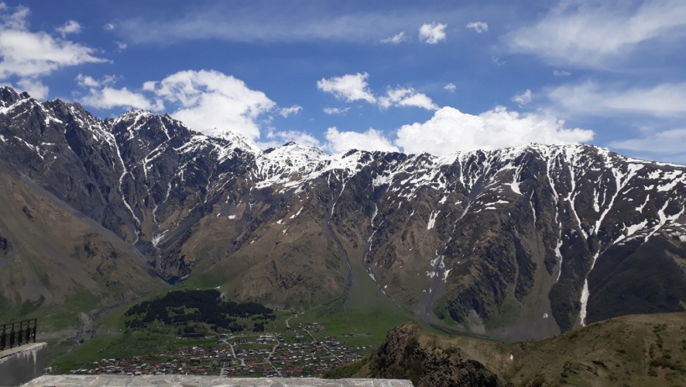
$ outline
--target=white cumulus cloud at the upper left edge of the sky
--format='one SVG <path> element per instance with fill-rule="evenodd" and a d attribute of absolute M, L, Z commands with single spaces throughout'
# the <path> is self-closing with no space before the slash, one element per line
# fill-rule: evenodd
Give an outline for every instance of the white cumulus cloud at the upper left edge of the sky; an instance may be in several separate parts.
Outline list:
<path fill-rule="evenodd" d="M 64 67 L 84 63 L 106 62 L 95 56 L 95 50 L 47 32 L 31 32 L 27 17 L 29 8 L 0 7 L 0 81 L 17 78 L 17 84 L 47 97 L 47 86 L 40 78 Z M 69 21 L 62 34 L 78 32 L 80 25 Z M 58 29 L 59 30 L 59 29 Z"/>

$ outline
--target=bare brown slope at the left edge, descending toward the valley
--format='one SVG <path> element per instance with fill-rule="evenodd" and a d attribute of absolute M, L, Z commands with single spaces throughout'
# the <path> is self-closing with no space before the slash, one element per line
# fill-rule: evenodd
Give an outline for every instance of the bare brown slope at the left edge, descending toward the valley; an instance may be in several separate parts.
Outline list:
<path fill-rule="evenodd" d="M 165 286 L 130 244 L 34 185 L 0 171 L 3 320 L 41 318 L 41 330 Z"/>

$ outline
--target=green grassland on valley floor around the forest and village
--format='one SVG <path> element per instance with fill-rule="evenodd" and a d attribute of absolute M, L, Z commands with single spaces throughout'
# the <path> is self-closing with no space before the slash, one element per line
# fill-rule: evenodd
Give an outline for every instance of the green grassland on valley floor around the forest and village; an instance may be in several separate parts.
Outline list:
<path fill-rule="evenodd" d="M 169 292 L 180 288 L 188 287 L 176 286 Z M 338 300 L 307 312 L 274 309 L 275 318 L 265 323 L 264 332 L 252 332 L 252 329 L 245 329 L 234 333 L 235 336 L 248 340 L 248 343 L 236 345 L 235 348 L 261 348 L 262 344 L 250 344 L 250 342 L 254 342 L 260 334 L 272 334 L 279 335 L 281 342 L 284 343 L 311 342 L 313 338 L 322 342 L 335 340 L 346 347 L 356 349 L 354 350 L 356 354 L 367 356 L 383 342 L 386 333 L 392 327 L 409 320 L 410 316 L 383 295 L 377 298 L 362 297 L 365 291 L 364 288 L 352 290 L 351 299 L 359 297 L 359 301 L 348 301 L 346 305 L 342 305 L 343 301 Z M 213 330 L 209 325 L 203 329 L 206 332 L 206 338 L 191 340 L 178 338 L 180 326 L 164 325 L 159 320 L 145 327 L 127 327 L 128 321 L 141 316 L 126 316 L 132 307 L 141 303 L 150 303 L 164 294 L 146 296 L 104 314 L 95 324 L 93 337 L 85 340 L 73 351 L 65 353 L 73 344 L 51 340 L 49 344 L 54 350 L 51 348 L 53 359 L 50 365 L 54 367 L 54 372 L 68 373 L 81 368 L 89 368 L 93 362 L 102 359 L 174 353 L 187 347 L 202 347 L 210 351 L 221 347 L 217 344 L 217 340 L 225 331 Z M 189 313 L 194 310 L 187 309 Z M 249 318 L 245 322 L 248 328 L 255 323 Z M 291 329 L 287 327 L 286 322 Z M 321 355 L 321 353 L 318 354 Z"/>

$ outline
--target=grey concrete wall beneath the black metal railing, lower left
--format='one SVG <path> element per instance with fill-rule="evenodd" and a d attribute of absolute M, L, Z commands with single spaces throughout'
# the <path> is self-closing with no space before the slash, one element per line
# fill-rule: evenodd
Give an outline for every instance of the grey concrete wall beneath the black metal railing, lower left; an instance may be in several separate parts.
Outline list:
<path fill-rule="evenodd" d="M 47 344 L 36 342 L 0 352 L 0 386 L 19 386 L 43 375 Z"/>

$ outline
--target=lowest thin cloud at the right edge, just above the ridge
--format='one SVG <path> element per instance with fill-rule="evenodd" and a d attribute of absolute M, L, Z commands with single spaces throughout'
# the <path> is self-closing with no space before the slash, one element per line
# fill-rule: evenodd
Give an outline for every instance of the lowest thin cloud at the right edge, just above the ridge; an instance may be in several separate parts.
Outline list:
<path fill-rule="evenodd" d="M 686 128 L 650 131 L 642 137 L 612 141 L 610 147 L 648 153 L 686 153 Z"/>

